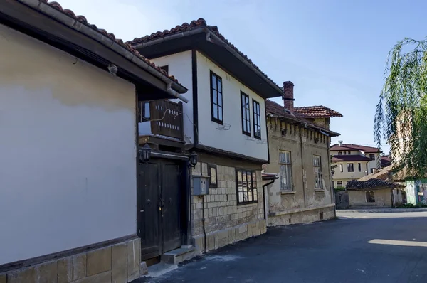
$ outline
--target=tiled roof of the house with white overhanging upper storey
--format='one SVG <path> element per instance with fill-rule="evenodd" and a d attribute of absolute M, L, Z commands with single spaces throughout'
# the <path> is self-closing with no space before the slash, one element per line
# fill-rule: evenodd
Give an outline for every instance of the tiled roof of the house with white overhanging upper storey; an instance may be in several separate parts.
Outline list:
<path fill-rule="evenodd" d="M 263 73 L 263 71 L 260 70 L 260 68 L 257 65 L 255 65 L 252 62 L 252 60 L 248 58 L 248 56 L 246 56 L 245 54 L 243 54 L 240 50 L 237 49 L 236 46 L 234 46 L 221 33 L 219 33 L 217 26 L 208 26 L 206 24 L 206 21 L 204 20 L 204 18 L 199 18 L 198 20 L 191 21 L 190 23 L 183 23 L 183 24 L 181 24 L 181 26 L 175 26 L 174 28 L 171 28 L 169 30 L 157 31 L 155 33 L 150 34 L 149 36 L 143 36 L 142 38 L 134 38 L 132 41 L 127 41 L 126 43 L 130 43 L 132 46 L 135 46 L 138 43 L 152 41 L 153 39 L 156 39 L 156 38 L 161 38 L 163 36 L 169 36 L 169 35 L 172 35 L 174 33 L 181 33 L 183 31 L 190 31 L 190 30 L 195 29 L 195 28 L 208 28 L 209 31 L 211 31 L 212 33 L 216 34 L 216 36 L 218 36 L 219 38 L 221 38 L 221 40 L 224 41 L 225 43 L 227 43 L 228 46 L 231 46 L 234 50 L 236 50 L 236 52 L 238 54 L 240 54 L 243 58 L 245 58 L 248 61 L 248 63 L 250 63 L 253 66 L 253 68 L 255 68 L 260 73 L 262 73 L 265 76 L 265 78 L 267 78 L 268 80 L 270 80 L 270 82 L 273 82 L 273 80 L 271 80 L 270 78 L 268 78 L 268 75 L 266 75 L 265 73 Z M 282 87 L 279 87 L 275 82 L 273 82 L 273 84 L 276 85 L 278 88 L 282 89 Z"/>

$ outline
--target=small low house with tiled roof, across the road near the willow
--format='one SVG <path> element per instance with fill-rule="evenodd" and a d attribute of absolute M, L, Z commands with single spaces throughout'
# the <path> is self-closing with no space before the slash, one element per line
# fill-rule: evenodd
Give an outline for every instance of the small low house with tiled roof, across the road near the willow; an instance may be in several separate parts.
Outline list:
<path fill-rule="evenodd" d="M 349 181 L 346 186 L 349 208 L 393 207 L 396 188 L 405 186 L 376 178 Z"/>

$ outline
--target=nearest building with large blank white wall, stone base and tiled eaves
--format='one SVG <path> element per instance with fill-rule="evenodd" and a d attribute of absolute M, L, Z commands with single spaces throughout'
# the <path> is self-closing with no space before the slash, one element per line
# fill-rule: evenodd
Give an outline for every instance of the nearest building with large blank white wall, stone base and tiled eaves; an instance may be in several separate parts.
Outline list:
<path fill-rule="evenodd" d="M 0 282 L 130 282 L 137 97 L 186 88 L 56 2 L 0 11 Z"/>

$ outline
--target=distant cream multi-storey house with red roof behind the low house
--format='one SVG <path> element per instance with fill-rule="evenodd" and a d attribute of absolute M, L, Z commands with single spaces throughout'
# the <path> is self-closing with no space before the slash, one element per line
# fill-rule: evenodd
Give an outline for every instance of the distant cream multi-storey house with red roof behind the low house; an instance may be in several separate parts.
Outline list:
<path fill-rule="evenodd" d="M 357 180 L 376 169 L 381 169 L 381 149 L 359 144 L 339 144 L 331 146 L 332 179 L 335 188 L 346 186 L 347 181 Z"/>

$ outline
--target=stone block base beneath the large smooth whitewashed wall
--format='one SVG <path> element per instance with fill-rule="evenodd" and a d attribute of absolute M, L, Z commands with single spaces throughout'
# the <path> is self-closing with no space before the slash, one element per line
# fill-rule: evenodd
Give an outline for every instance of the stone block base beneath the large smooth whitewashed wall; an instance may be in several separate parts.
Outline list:
<path fill-rule="evenodd" d="M 0 283 L 131 282 L 140 277 L 139 238 L 0 274 Z"/>

